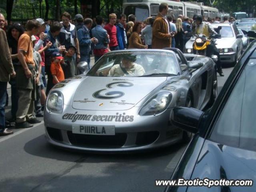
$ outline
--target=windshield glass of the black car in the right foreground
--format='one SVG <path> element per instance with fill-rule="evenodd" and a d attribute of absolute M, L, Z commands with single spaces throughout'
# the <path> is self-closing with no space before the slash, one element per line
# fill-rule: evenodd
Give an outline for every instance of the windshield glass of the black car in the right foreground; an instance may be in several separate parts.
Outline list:
<path fill-rule="evenodd" d="M 216 121 L 210 140 L 256 151 L 256 59 L 250 59 Z"/>

